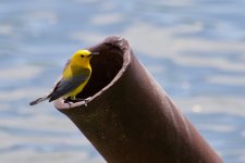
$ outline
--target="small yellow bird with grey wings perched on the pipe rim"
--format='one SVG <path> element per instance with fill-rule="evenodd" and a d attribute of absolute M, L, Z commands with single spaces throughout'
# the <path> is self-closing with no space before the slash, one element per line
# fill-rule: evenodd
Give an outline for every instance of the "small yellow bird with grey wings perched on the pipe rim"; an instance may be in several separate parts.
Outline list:
<path fill-rule="evenodd" d="M 60 79 L 54 84 L 51 91 L 45 97 L 29 102 L 29 105 L 35 105 L 45 100 L 51 102 L 61 97 L 64 100 L 70 99 L 71 101 L 76 101 L 77 93 L 84 89 L 90 78 L 90 59 L 97 54 L 99 52 L 91 52 L 85 49 L 77 50 L 66 62 Z"/>

